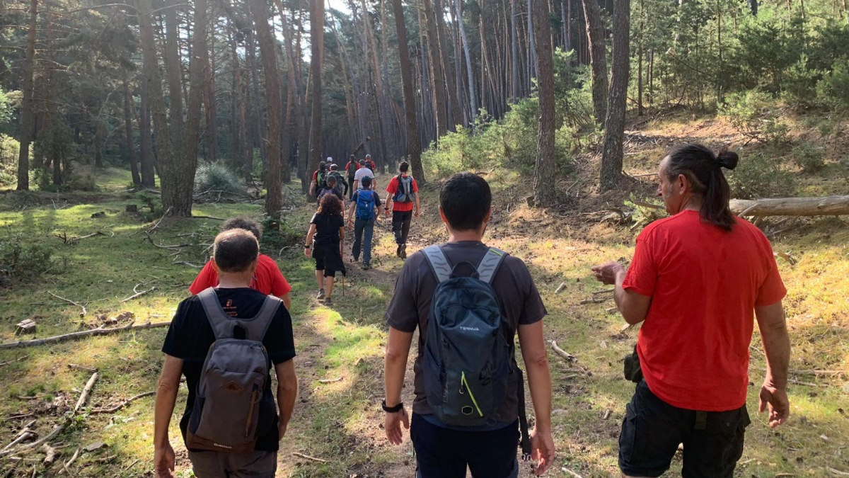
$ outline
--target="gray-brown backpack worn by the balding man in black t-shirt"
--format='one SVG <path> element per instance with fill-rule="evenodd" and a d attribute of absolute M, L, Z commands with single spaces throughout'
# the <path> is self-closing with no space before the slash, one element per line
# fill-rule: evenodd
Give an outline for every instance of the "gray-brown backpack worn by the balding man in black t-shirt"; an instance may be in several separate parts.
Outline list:
<path fill-rule="evenodd" d="M 256 316 L 228 316 L 209 287 L 198 294 L 216 341 L 206 354 L 188 420 L 186 447 L 216 452 L 252 452 L 276 416 L 267 383 L 268 353 L 262 339 L 282 301 L 267 296 Z M 236 338 L 236 330 L 244 339 Z"/>

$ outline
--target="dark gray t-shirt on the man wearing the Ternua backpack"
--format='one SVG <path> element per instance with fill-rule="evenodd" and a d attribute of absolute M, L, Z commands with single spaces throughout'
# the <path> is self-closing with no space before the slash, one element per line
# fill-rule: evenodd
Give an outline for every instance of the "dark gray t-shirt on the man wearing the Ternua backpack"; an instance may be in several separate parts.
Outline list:
<path fill-rule="evenodd" d="M 467 261 L 478 265 L 489 248 L 482 242 L 449 242 L 442 245 L 448 262 L 452 265 Z M 515 339 L 516 329 L 520 325 L 532 324 L 543 319 L 548 314 L 539 296 L 537 286 L 531 278 L 531 273 L 521 259 L 507 256 L 495 277 L 492 278 L 492 288 L 498 295 L 502 318 L 507 322 L 509 344 Z M 390 327 L 402 332 L 412 333 L 419 327 L 419 353 L 413 364 L 415 373 L 413 413 L 428 415 L 433 412 L 424 395 L 424 376 L 422 375 L 422 352 L 424 339 L 427 338 L 427 326 L 430 316 L 430 301 L 436 290 L 436 276 L 430 270 L 424 253 L 413 253 L 404 263 L 401 274 L 395 284 L 395 295 L 386 310 L 386 322 Z M 515 362 L 515 357 L 514 360 Z M 498 411 L 498 422 L 512 423 L 519 417 L 519 400 L 517 398 L 518 374 L 510 375 L 507 398 Z"/>

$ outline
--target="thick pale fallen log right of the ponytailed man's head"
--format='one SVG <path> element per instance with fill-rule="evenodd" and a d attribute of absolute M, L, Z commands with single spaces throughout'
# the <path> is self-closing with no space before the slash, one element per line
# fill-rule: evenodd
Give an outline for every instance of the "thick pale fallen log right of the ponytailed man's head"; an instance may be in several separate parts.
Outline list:
<path fill-rule="evenodd" d="M 849 214 L 849 196 L 733 199 L 730 206 L 739 216 L 833 216 Z"/>

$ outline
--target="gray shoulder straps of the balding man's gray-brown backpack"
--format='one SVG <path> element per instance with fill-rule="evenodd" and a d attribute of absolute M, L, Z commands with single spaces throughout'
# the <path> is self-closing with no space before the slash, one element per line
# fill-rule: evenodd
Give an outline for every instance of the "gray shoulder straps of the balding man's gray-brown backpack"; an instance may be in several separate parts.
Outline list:
<path fill-rule="evenodd" d="M 273 295 L 268 295 L 256 316 L 237 318 L 228 316 L 222 309 L 214 287 L 209 287 L 199 293 L 198 299 L 204 307 L 206 318 L 210 322 L 216 340 L 233 339 L 235 327 L 238 326 L 245 330 L 245 339 L 261 342 L 277 314 L 278 307 L 283 304 L 282 300 Z"/>

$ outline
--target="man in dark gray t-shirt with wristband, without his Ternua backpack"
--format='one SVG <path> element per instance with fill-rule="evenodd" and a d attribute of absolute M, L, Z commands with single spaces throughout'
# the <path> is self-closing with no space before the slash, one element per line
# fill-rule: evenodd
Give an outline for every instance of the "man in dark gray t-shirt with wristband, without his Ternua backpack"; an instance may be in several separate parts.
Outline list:
<path fill-rule="evenodd" d="M 489 248 L 482 242 L 492 215 L 492 191 L 486 180 L 470 173 L 454 174 L 439 196 L 439 212 L 448 230 L 448 242 L 441 245 L 450 265 L 467 261 L 476 265 Z M 498 297 L 501 319 L 509 343 L 519 335 L 522 358 L 531 389 L 536 415 L 531 431 L 531 449 L 542 475 L 554 459 L 551 435 L 551 376 L 543 339 L 543 299 L 521 259 L 507 256 L 492 276 L 492 289 Z M 386 344 L 385 387 L 386 437 L 402 442 L 402 424 L 410 428 L 407 410 L 401 402 L 407 357 L 413 333 L 419 328 L 419 353 L 413 366 L 413 421 L 410 436 L 416 450 L 419 478 L 465 476 L 468 466 L 474 476 L 515 478 L 519 471 L 516 445 L 519 439 L 519 374 L 508 378 L 506 398 L 494 413 L 493 423 L 458 427 L 442 423 L 428 404 L 424 384 L 423 351 L 428 337 L 431 300 L 438 281 L 424 253 L 410 256 L 398 276 L 395 293 L 386 310 L 389 340 Z M 511 357 L 515 367 L 515 357 Z M 473 399 L 474 400 L 474 399 Z"/>

